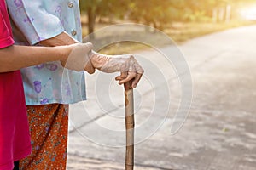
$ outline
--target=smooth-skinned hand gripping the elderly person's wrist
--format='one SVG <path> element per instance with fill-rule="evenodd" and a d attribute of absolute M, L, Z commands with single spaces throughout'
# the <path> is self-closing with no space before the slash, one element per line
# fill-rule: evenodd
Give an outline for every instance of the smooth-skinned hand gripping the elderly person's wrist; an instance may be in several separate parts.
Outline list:
<path fill-rule="evenodd" d="M 95 68 L 90 62 L 89 54 L 93 48 L 90 42 L 75 43 L 69 45 L 70 53 L 66 60 L 61 60 L 61 65 L 69 70 L 87 71 L 90 74 L 95 72 Z"/>

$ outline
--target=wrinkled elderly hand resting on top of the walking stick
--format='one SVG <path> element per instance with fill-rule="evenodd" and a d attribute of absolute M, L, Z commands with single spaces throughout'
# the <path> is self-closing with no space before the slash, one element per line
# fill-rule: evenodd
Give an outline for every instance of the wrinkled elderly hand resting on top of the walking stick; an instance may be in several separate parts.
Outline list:
<path fill-rule="evenodd" d="M 112 73 L 120 71 L 120 76 L 115 77 L 115 79 L 119 81 L 119 84 L 132 80 L 131 88 L 136 88 L 144 72 L 142 66 L 138 64 L 132 54 L 104 55 L 92 51 L 90 62 L 94 68 L 102 72 Z"/>

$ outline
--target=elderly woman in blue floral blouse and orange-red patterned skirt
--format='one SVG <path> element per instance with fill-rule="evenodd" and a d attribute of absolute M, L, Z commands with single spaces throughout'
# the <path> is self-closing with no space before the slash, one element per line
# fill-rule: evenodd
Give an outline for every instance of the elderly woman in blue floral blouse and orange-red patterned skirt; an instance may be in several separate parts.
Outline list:
<path fill-rule="evenodd" d="M 61 46 L 81 42 L 79 0 L 9 0 L 7 3 L 18 43 Z M 87 45 L 91 47 L 90 43 Z M 93 51 L 88 55 L 88 63 L 96 69 L 121 71 L 116 77 L 120 84 L 134 79 L 135 88 L 142 77 L 143 69 L 131 55 L 107 56 Z M 22 169 L 66 169 L 68 104 L 85 100 L 86 96 L 84 72 L 67 71 L 62 65 L 66 62 L 21 69 L 32 137 L 32 155 L 20 161 Z M 67 62 L 67 68 L 73 68 L 73 64 Z M 65 87 L 61 88 L 62 85 Z"/>

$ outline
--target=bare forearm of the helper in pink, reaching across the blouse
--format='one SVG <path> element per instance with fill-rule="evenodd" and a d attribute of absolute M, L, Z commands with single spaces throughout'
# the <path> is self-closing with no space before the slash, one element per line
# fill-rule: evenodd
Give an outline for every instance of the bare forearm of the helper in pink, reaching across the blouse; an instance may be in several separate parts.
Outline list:
<path fill-rule="evenodd" d="M 10 46 L 0 49 L 0 72 L 20 70 L 41 63 L 67 59 L 72 48 L 68 46 L 45 48 Z"/>

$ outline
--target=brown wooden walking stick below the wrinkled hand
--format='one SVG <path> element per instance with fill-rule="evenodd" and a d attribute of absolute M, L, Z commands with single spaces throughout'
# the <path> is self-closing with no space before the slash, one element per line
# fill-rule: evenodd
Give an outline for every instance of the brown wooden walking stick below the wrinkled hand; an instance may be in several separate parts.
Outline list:
<path fill-rule="evenodd" d="M 131 81 L 125 82 L 125 127 L 126 153 L 125 170 L 133 170 L 134 166 L 134 105 Z"/>

